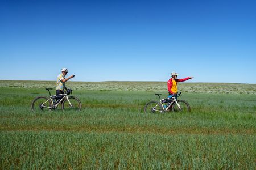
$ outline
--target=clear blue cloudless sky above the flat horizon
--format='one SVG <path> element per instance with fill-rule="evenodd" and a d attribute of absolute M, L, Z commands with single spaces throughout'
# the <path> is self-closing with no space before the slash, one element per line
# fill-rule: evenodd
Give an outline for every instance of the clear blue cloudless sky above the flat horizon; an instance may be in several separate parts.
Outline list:
<path fill-rule="evenodd" d="M 0 0 L 0 58 L 0 80 L 255 84 L 256 1 Z"/>

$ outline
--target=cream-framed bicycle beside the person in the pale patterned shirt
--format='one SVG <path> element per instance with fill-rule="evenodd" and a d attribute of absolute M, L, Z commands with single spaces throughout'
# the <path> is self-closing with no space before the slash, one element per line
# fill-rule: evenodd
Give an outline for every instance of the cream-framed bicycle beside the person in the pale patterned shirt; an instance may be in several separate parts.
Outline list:
<path fill-rule="evenodd" d="M 36 97 L 31 103 L 31 109 L 33 112 L 48 112 L 56 109 L 61 105 L 62 111 L 72 110 L 80 111 L 82 108 L 81 101 L 75 96 L 68 96 L 72 94 L 72 89 L 68 89 L 61 95 L 51 95 L 50 90 L 52 88 L 46 88 L 49 92 L 50 97 L 39 96 Z"/>

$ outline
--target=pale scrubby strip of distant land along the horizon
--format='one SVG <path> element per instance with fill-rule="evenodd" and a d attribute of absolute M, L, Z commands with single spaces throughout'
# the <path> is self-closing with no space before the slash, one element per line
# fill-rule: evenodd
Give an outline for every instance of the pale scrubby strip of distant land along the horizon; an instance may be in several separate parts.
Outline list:
<path fill-rule="evenodd" d="M 0 80 L 0 87 L 55 88 L 53 81 Z M 67 82 L 74 90 L 96 91 L 167 91 L 167 82 Z M 179 91 L 202 93 L 256 94 L 256 84 L 240 83 L 179 83 Z"/>

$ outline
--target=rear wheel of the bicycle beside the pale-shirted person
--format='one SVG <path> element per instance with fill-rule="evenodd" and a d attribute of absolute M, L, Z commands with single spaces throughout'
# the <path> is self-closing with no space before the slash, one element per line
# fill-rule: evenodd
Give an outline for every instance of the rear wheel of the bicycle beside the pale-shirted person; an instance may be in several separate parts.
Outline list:
<path fill-rule="evenodd" d="M 34 113 L 39 113 L 39 112 L 46 112 L 46 111 L 51 111 L 52 109 L 52 101 L 49 100 L 49 97 L 46 97 L 46 96 L 39 96 L 39 97 L 36 97 L 34 100 L 32 100 L 32 103 L 31 103 L 31 110 L 34 112 Z M 46 102 L 46 106 L 49 107 L 49 108 L 44 108 L 42 107 L 41 105 Z"/>

